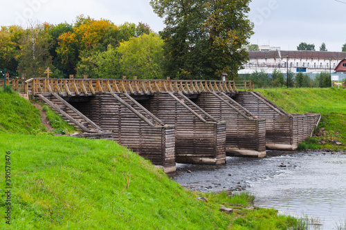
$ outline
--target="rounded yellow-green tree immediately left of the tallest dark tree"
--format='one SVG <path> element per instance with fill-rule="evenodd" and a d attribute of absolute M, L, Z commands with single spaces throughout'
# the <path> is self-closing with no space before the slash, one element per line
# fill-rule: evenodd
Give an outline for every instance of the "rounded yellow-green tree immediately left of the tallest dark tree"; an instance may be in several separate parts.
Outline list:
<path fill-rule="evenodd" d="M 138 76 L 138 79 L 160 79 L 163 77 L 163 40 L 149 33 L 131 37 L 118 47 L 120 65 L 125 75 Z"/>

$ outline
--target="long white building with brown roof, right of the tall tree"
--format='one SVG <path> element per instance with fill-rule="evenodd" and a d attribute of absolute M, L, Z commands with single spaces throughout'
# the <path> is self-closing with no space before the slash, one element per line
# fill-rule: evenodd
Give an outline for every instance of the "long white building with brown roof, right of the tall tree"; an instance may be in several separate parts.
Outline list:
<path fill-rule="evenodd" d="M 256 70 L 258 72 L 264 70 L 270 74 L 275 68 L 286 73 L 287 64 L 289 70 L 294 73 L 334 72 L 338 63 L 346 58 L 346 52 L 269 50 L 248 53 L 250 59 L 247 64 L 244 64 L 244 69 L 239 70 L 239 74 L 251 74 Z"/>

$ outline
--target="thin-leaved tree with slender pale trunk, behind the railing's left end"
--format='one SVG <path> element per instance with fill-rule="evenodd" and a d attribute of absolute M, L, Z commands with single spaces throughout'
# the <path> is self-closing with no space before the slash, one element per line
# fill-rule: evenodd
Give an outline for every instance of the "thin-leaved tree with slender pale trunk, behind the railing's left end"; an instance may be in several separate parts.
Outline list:
<path fill-rule="evenodd" d="M 48 42 L 48 24 L 35 24 L 29 21 L 29 26 L 19 41 L 20 54 L 17 56 L 19 68 L 26 71 L 28 77 L 44 77 L 44 70 L 52 66 L 49 54 L 51 44 Z"/>

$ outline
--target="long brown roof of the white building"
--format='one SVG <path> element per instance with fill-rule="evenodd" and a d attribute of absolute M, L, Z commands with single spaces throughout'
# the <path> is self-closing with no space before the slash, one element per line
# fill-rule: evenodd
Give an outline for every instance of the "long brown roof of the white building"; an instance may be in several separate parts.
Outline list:
<path fill-rule="evenodd" d="M 295 59 L 346 59 L 346 52 L 326 52 L 326 51 L 287 51 L 287 50 L 275 50 L 275 51 L 249 51 L 250 59 L 266 59 L 266 58 L 289 58 Z"/>

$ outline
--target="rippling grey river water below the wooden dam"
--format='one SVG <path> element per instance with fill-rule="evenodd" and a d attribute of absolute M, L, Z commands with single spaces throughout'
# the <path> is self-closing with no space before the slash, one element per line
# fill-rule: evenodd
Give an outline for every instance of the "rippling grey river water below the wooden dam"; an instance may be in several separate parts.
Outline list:
<path fill-rule="evenodd" d="M 217 166 L 177 164 L 173 180 L 203 192 L 246 190 L 255 205 L 296 217 L 308 216 L 314 229 L 346 222 L 346 154 L 267 151 L 264 159 L 227 157 Z M 321 224 L 321 225 L 319 225 Z"/>

